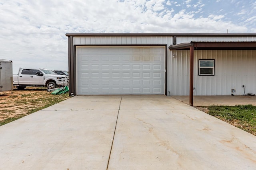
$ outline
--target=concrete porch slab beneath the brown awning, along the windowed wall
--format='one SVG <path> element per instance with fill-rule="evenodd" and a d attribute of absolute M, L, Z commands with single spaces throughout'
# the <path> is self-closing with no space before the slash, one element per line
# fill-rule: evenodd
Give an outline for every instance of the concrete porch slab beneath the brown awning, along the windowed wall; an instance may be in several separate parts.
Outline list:
<path fill-rule="evenodd" d="M 189 96 L 172 96 L 189 105 Z M 193 106 L 236 106 L 252 104 L 256 106 L 256 96 L 194 96 Z"/>

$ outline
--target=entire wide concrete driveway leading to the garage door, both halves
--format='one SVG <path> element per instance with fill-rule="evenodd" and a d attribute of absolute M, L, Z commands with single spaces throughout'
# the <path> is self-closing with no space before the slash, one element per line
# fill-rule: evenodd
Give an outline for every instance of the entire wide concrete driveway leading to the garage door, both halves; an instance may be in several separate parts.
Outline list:
<path fill-rule="evenodd" d="M 256 136 L 170 96 L 75 96 L 0 126 L 0 170 L 252 170 Z"/>

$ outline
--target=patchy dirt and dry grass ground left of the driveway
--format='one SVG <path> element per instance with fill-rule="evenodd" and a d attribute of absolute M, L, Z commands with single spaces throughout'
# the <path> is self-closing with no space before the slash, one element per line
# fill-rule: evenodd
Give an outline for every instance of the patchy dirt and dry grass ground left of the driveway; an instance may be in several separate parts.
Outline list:
<path fill-rule="evenodd" d="M 36 87 L 0 92 L 0 122 L 28 115 L 68 98 L 68 94 L 53 95 L 46 88 Z"/>

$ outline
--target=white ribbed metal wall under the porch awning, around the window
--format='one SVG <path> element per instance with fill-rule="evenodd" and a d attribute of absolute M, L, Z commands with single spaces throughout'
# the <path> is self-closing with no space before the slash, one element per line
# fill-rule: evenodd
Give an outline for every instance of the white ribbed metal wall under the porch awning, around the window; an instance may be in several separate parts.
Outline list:
<path fill-rule="evenodd" d="M 188 50 L 174 51 L 172 62 L 173 96 L 189 95 L 189 54 Z M 215 59 L 214 76 L 198 76 L 198 60 Z M 256 94 L 256 51 L 255 50 L 196 50 L 194 51 L 194 95 L 243 95 Z"/>

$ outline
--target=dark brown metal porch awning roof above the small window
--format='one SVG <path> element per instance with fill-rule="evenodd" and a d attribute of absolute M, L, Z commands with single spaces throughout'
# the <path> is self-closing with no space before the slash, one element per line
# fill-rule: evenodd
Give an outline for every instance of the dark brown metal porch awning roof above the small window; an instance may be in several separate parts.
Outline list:
<path fill-rule="evenodd" d="M 191 41 L 170 45 L 170 50 L 256 50 L 256 41 Z"/>

